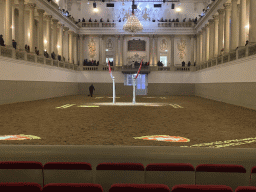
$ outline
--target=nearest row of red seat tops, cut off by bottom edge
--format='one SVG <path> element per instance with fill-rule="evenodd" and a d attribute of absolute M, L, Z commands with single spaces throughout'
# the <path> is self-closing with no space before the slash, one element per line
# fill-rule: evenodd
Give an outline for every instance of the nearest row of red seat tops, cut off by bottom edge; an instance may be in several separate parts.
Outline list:
<path fill-rule="evenodd" d="M 42 189 L 38 183 L 0 183 L 0 191 L 8 192 L 103 192 L 100 184 L 93 183 L 53 183 Z M 109 192 L 170 192 L 163 184 L 113 184 Z M 172 192 L 233 192 L 231 187 L 225 185 L 175 185 Z M 240 186 L 235 192 L 255 192 L 256 187 Z"/>

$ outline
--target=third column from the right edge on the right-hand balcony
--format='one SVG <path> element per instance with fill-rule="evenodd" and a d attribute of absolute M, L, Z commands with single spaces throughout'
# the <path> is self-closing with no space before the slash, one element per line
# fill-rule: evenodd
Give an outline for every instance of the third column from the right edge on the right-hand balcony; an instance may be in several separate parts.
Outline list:
<path fill-rule="evenodd" d="M 225 3 L 225 24 L 224 24 L 224 52 L 228 53 L 230 49 L 230 16 L 231 16 L 231 4 Z"/>

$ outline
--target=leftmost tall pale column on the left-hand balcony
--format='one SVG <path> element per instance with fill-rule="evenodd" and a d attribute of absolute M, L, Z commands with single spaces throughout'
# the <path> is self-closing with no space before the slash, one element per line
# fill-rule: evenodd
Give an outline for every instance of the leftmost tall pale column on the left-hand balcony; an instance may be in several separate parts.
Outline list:
<path fill-rule="evenodd" d="M 5 5 L 5 44 L 12 46 L 12 4 L 13 0 L 6 0 Z"/>

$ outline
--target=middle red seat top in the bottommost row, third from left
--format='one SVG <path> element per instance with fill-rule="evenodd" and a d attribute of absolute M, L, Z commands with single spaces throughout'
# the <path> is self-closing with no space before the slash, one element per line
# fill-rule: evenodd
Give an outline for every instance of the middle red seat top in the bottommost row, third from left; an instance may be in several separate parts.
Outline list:
<path fill-rule="evenodd" d="M 163 184 L 113 184 L 109 192 L 170 192 Z"/>

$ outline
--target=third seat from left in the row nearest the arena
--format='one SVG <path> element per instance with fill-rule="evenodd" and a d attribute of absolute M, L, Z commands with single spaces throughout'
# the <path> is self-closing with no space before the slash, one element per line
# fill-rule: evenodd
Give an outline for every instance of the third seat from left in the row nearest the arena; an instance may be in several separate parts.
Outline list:
<path fill-rule="evenodd" d="M 100 163 L 96 167 L 96 183 L 108 192 L 112 184 L 144 184 L 144 166 L 141 163 Z"/>

